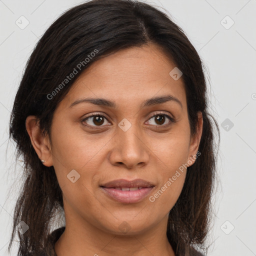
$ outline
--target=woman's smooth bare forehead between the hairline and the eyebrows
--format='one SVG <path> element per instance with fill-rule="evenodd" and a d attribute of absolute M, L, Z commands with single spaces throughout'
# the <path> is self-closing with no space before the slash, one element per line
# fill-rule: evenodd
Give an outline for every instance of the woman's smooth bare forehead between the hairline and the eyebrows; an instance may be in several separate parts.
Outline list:
<path fill-rule="evenodd" d="M 175 63 L 155 44 L 129 47 L 103 56 L 85 69 L 67 94 L 68 101 L 85 96 L 114 101 L 144 100 L 171 94 L 186 105 L 182 76 L 174 80 Z"/>

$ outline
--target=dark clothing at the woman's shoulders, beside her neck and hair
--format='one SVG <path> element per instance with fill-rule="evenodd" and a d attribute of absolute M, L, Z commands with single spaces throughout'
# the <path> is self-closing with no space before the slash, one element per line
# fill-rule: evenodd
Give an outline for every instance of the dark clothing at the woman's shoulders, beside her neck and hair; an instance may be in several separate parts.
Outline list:
<path fill-rule="evenodd" d="M 54 251 L 54 244 L 58 240 L 60 235 L 64 232 L 64 230 L 65 230 L 65 227 L 62 226 L 52 231 L 48 237 L 47 245 L 38 256 L 56 256 L 56 253 Z M 203 256 L 203 255 L 200 252 L 192 249 L 190 256 Z"/>

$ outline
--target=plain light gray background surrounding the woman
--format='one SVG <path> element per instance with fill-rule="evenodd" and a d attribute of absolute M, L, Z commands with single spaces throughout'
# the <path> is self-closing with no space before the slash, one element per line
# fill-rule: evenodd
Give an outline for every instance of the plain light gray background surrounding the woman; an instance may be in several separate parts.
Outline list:
<path fill-rule="evenodd" d="M 81 2 L 0 0 L 0 255 L 8 255 L 14 203 L 22 186 L 21 165 L 15 166 L 15 147 L 7 140 L 14 96 L 35 43 L 64 10 Z M 256 0 L 146 2 L 167 10 L 206 66 L 210 112 L 221 137 L 208 255 L 256 255 Z M 29 24 L 21 29 L 21 21 Z M 17 255 L 16 245 L 11 255 Z"/>

